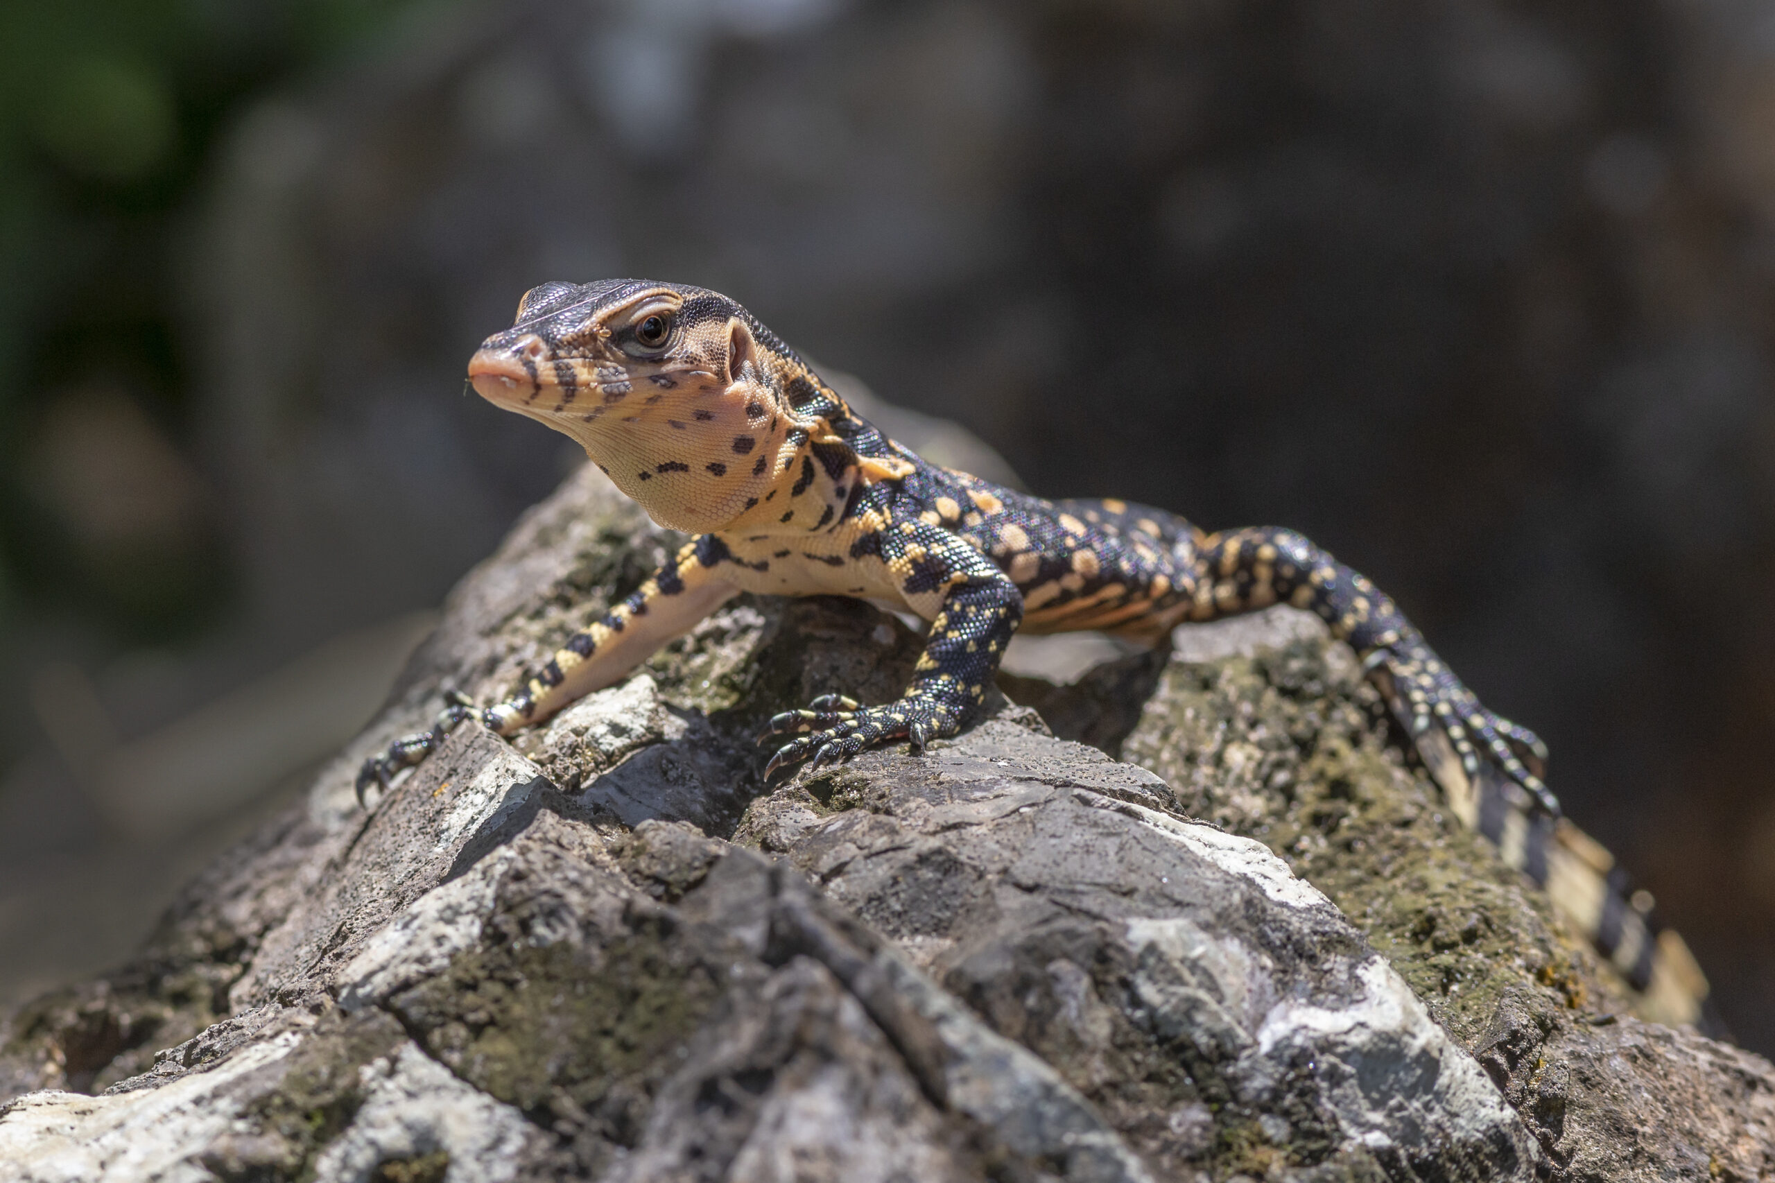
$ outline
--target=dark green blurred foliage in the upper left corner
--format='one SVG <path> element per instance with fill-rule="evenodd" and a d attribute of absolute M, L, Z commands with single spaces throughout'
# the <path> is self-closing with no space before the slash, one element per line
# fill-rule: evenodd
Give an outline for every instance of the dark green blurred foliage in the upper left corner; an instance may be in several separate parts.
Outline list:
<path fill-rule="evenodd" d="M 112 643 L 167 641 L 225 602 L 215 506 L 190 464 L 188 215 L 254 96 L 408 7 L 0 4 L 0 627 L 71 613 Z M 131 515 L 142 490 L 172 487 L 197 492 Z"/>

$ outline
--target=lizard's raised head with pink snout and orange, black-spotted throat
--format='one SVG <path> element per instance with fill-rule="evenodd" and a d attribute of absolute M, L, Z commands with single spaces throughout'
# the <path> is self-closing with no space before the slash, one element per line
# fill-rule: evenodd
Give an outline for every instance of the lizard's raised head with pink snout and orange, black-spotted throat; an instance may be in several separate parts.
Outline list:
<path fill-rule="evenodd" d="M 660 526 L 746 513 L 808 439 L 785 375 L 801 361 L 724 295 L 611 279 L 550 282 L 469 361 L 476 393 L 572 435 Z"/>

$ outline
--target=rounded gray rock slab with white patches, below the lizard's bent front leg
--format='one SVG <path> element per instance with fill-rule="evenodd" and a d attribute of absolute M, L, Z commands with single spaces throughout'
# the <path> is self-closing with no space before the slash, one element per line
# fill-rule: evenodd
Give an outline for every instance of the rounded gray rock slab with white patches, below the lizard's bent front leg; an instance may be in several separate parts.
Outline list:
<path fill-rule="evenodd" d="M 848 808 L 776 833 L 797 798 Z M 1331 902 L 1168 798 L 989 721 L 761 799 L 738 837 L 1054 1064 L 1166 1176 L 1530 1178 L 1514 1112 Z"/>

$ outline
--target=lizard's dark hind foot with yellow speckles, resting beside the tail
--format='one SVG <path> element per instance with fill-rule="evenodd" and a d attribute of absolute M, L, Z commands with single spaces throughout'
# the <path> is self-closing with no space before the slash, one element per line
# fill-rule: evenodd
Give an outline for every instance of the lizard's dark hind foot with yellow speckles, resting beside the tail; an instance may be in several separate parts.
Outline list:
<path fill-rule="evenodd" d="M 1413 739 L 1440 726 L 1468 776 L 1477 776 L 1479 762 L 1487 758 L 1530 796 L 1535 808 L 1558 817 L 1558 798 L 1541 780 L 1548 757 L 1541 737 L 1482 707 L 1427 645 L 1397 641 L 1370 654 L 1363 664 L 1370 670 L 1384 664 L 1392 671 Z"/>

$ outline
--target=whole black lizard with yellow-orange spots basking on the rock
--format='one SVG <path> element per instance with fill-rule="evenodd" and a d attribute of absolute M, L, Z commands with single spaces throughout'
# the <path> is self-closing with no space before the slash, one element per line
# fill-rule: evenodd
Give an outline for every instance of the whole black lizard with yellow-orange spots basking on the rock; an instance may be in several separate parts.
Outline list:
<path fill-rule="evenodd" d="M 456 700 L 431 732 L 369 760 L 360 794 L 465 718 L 511 734 L 611 686 L 740 592 L 870 599 L 930 622 L 900 700 L 827 695 L 776 716 L 769 734 L 788 741 L 767 776 L 889 739 L 921 750 L 957 734 L 1019 629 L 1159 641 L 1180 622 L 1287 602 L 1317 613 L 1384 682 L 1420 750 L 1447 766 L 1438 778 L 1464 783 L 1468 824 L 1548 877 L 1557 803 L 1539 776 L 1541 741 L 1482 707 L 1392 599 L 1294 531 L 1207 533 L 1164 510 L 1045 501 L 927 464 L 852 412 L 751 313 L 703 288 L 543 284 L 525 293 L 511 329 L 485 341 L 469 375 L 488 401 L 573 437 L 655 522 L 694 538 L 509 700 Z M 1537 821 L 1507 835 L 1503 792 L 1516 815 Z M 1590 911 L 1592 929 L 1619 927 L 1621 908 Z M 1642 988 L 1651 950 L 1649 934 L 1621 950 Z"/>

